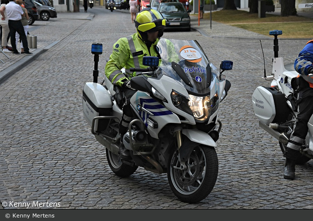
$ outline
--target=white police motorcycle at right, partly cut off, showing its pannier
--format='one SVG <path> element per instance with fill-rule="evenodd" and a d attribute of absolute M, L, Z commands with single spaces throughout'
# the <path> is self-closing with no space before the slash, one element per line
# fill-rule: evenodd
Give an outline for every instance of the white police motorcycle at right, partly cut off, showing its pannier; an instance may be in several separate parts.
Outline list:
<path fill-rule="evenodd" d="M 252 103 L 259 125 L 279 141 L 281 151 L 286 151 L 286 145 L 297 121 L 297 90 L 295 80 L 299 75 L 296 71 L 287 71 L 283 58 L 278 57 L 278 38 L 280 30 L 269 32 L 274 36 L 273 69 L 270 76 L 264 73 L 264 79 L 270 80 L 270 87 L 259 86 L 252 95 Z M 297 164 L 303 164 L 313 159 L 313 116 L 310 118 L 309 132 L 300 152 Z"/>

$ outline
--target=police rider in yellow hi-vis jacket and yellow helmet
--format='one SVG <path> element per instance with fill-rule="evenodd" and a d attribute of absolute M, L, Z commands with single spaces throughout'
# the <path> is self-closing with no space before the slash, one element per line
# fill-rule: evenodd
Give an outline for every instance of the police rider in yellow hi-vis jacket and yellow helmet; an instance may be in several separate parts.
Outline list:
<path fill-rule="evenodd" d="M 125 148 L 122 140 L 133 117 L 130 99 L 136 93 L 130 86 L 130 78 L 135 77 L 136 72 L 130 72 L 129 69 L 148 68 L 142 64 L 144 56 L 159 57 L 156 45 L 163 35 L 165 19 L 157 10 L 144 8 L 137 14 L 135 27 L 136 33 L 118 39 L 113 45 L 112 54 L 105 66 L 106 77 L 113 85 L 121 87 L 124 92 L 125 103 L 119 124 L 120 156 L 124 160 L 130 159 L 130 152 Z M 122 68 L 125 68 L 125 75 L 121 71 Z"/>

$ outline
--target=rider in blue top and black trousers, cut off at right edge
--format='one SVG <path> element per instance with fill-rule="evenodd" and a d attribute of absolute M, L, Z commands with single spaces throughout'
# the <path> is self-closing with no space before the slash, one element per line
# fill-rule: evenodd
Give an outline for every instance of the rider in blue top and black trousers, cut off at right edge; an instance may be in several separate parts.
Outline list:
<path fill-rule="evenodd" d="M 295 165 L 298 157 L 301 156 L 301 149 L 307 133 L 308 122 L 313 114 L 313 40 L 309 41 L 299 53 L 294 64 L 295 70 L 299 73 L 296 83 L 298 91 L 298 120 L 294 125 L 293 132 L 289 138 L 285 152 L 284 178 L 295 179 Z"/>

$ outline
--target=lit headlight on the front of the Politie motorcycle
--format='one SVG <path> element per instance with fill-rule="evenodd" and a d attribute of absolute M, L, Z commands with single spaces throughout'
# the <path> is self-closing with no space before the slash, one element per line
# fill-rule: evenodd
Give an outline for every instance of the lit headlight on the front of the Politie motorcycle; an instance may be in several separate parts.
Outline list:
<path fill-rule="evenodd" d="M 198 97 L 189 95 L 189 99 L 189 108 L 192 110 L 193 116 L 198 120 L 207 119 L 217 110 L 219 104 L 218 94 L 215 94 L 212 99 L 210 99 L 210 96 Z"/>

